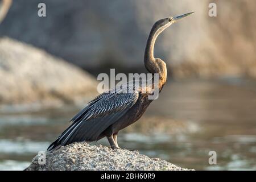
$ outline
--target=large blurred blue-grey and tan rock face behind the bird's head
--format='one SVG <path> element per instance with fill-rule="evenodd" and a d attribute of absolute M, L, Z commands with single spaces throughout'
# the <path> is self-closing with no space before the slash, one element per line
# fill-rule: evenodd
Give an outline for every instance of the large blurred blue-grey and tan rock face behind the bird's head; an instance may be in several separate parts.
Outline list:
<path fill-rule="evenodd" d="M 93 74 L 118 68 L 143 72 L 143 52 L 152 24 L 196 11 L 160 35 L 155 55 L 176 77 L 256 77 L 256 2 L 46 0 L 47 17 L 35 0 L 14 1 L 0 35 L 43 48 Z M 209 2 L 217 17 L 208 16 Z"/>

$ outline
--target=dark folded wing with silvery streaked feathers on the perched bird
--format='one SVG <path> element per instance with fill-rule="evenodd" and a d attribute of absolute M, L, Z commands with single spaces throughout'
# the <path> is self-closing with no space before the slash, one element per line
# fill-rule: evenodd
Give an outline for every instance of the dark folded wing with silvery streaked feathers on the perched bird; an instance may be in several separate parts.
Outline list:
<path fill-rule="evenodd" d="M 94 141 L 138 100 L 138 93 L 103 93 L 71 119 L 73 122 L 47 150 L 72 142 Z"/>

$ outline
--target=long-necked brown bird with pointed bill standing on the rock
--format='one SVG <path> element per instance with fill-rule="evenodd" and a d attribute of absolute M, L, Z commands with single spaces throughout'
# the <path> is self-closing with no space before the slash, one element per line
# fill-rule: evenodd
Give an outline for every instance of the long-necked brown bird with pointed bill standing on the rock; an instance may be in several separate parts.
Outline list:
<path fill-rule="evenodd" d="M 119 130 L 131 125 L 143 115 L 152 100 L 148 96 L 154 92 L 160 92 L 166 83 L 166 63 L 154 57 L 154 44 L 158 35 L 177 20 L 192 13 L 181 16 L 168 17 L 158 20 L 150 31 L 144 53 L 144 65 L 148 72 L 159 74 L 159 80 L 148 86 L 148 92 L 144 85 L 133 88 L 133 92 L 122 93 L 120 88 L 114 88 L 114 92 L 100 94 L 94 100 L 71 119 L 72 124 L 48 147 L 47 150 L 55 150 L 73 142 L 95 141 L 107 137 L 112 148 L 117 148 L 117 134 Z M 127 84 L 128 85 L 128 84 Z M 127 86 L 126 85 L 126 86 Z M 156 88 L 158 87 L 158 90 Z M 127 88 L 128 89 L 128 86 Z"/>

